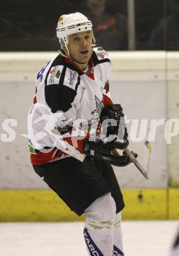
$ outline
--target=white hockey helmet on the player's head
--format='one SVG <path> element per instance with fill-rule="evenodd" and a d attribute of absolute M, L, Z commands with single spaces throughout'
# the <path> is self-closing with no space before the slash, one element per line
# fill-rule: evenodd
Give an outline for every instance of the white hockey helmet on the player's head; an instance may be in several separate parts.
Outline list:
<path fill-rule="evenodd" d="M 84 14 L 80 12 L 74 12 L 71 14 L 63 14 L 59 17 L 57 22 L 57 37 L 59 39 L 59 43 L 61 45 L 61 49 L 67 49 L 67 54 L 69 55 L 68 49 L 68 35 L 73 33 L 80 33 L 85 31 L 91 31 L 93 36 L 92 30 L 92 23 Z M 95 38 L 93 36 L 93 45 L 95 44 Z"/>

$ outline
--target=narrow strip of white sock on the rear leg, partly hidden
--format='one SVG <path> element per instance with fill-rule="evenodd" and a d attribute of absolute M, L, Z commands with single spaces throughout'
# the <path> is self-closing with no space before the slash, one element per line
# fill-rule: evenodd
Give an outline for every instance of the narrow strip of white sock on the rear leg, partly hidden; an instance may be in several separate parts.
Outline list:
<path fill-rule="evenodd" d="M 114 248 L 112 256 L 123 256 L 121 212 L 116 214 L 114 223 Z"/>

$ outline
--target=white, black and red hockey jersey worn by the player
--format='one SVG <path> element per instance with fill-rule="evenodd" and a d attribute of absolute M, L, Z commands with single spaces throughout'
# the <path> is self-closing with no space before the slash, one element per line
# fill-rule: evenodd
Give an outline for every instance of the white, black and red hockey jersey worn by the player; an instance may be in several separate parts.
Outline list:
<path fill-rule="evenodd" d="M 112 104 L 108 91 L 109 74 L 110 59 L 102 47 L 93 49 L 86 74 L 61 55 L 40 70 L 34 104 L 28 116 L 29 149 L 33 165 L 74 156 L 76 149 L 78 154 L 83 153 L 82 139 L 78 140 L 76 149 L 73 145 L 67 151 L 61 150 L 56 137 L 47 130 L 52 131 L 56 127 L 54 119 L 63 123 L 74 123 L 78 119 L 89 121 L 103 106 Z M 47 126 L 50 128 L 46 129 Z M 72 144 L 70 133 L 63 135 L 63 140 L 66 146 Z"/>

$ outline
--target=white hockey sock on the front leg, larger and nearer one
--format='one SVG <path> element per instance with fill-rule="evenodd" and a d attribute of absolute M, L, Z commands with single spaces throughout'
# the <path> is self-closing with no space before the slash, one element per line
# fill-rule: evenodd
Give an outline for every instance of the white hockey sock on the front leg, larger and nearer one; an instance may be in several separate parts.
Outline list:
<path fill-rule="evenodd" d="M 112 256 L 116 203 L 110 193 L 91 203 L 85 214 L 84 239 L 89 255 Z"/>

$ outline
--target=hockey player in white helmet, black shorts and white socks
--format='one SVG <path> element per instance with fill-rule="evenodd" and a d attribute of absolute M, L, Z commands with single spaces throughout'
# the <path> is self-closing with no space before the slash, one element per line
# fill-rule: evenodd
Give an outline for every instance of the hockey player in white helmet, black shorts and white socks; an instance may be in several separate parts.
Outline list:
<path fill-rule="evenodd" d="M 31 163 L 72 211 L 86 215 L 84 239 L 89 255 L 122 256 L 124 203 L 110 163 L 130 163 L 127 156 L 114 156 L 115 145 L 120 149 L 128 145 L 127 132 L 123 142 L 90 141 L 88 136 L 95 114 L 102 121 L 105 116 L 113 118 L 117 129 L 123 117 L 122 108 L 112 104 L 109 96 L 110 59 L 102 47 L 95 47 L 92 24 L 83 14 L 60 16 L 56 31 L 61 49 L 37 74 L 34 105 L 29 113 Z M 59 116 L 53 133 L 46 133 L 48 118 L 44 117 L 52 114 Z M 79 119 L 87 121 L 88 133 L 75 144 L 72 127 Z M 110 128 L 113 134 L 118 133 Z M 57 136 L 63 137 L 63 145 Z"/>

